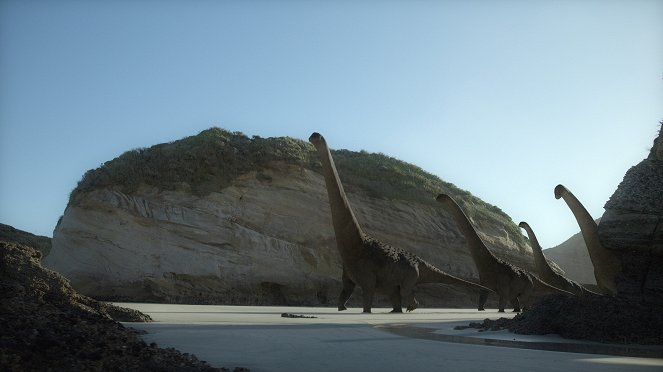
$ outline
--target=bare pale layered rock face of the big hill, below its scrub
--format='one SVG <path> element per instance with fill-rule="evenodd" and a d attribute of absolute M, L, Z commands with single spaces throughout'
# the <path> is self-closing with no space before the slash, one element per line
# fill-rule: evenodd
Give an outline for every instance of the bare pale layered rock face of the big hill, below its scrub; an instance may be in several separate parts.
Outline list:
<path fill-rule="evenodd" d="M 464 238 L 440 208 L 362 193 L 348 197 L 367 233 L 453 275 L 478 279 Z M 496 255 L 533 267 L 529 247 L 503 226 L 479 230 Z M 112 187 L 79 193 L 54 231 L 44 265 L 101 299 L 333 306 L 340 293 L 324 179 L 282 161 L 204 196 L 186 186 L 146 185 L 132 193 Z M 476 301 L 443 285 L 421 286 L 418 298 L 424 306 Z"/>

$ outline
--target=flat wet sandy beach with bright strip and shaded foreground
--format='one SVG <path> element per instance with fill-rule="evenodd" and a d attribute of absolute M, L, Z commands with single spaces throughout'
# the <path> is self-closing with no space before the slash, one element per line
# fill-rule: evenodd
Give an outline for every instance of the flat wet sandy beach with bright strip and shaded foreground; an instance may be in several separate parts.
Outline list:
<path fill-rule="evenodd" d="M 338 312 L 308 307 L 118 305 L 155 320 L 125 323 L 146 331 L 146 342 L 193 353 L 212 366 L 242 366 L 254 372 L 663 369 L 663 347 L 632 346 L 629 352 L 629 347 L 555 335 L 453 329 L 514 315 L 495 309 L 417 309 L 391 314 L 380 308 L 362 314 L 356 308 Z M 306 318 L 282 317 L 284 313 Z"/>

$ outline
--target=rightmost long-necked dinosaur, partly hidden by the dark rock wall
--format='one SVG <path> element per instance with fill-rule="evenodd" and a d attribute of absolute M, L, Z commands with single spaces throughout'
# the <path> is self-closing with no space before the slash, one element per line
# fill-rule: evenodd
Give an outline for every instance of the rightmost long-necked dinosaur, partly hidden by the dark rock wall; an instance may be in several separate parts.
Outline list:
<path fill-rule="evenodd" d="M 594 277 L 596 284 L 599 288 L 611 295 L 617 294 L 617 275 L 621 272 L 621 262 L 617 254 L 611 250 L 606 249 L 599 240 L 598 225 L 587 212 L 585 206 L 580 203 L 578 198 L 575 197 L 563 185 L 555 187 L 555 198 L 563 198 L 566 204 L 573 212 L 573 215 L 578 221 L 582 237 L 585 239 L 585 245 L 589 252 L 589 258 L 592 260 L 594 266 Z"/>

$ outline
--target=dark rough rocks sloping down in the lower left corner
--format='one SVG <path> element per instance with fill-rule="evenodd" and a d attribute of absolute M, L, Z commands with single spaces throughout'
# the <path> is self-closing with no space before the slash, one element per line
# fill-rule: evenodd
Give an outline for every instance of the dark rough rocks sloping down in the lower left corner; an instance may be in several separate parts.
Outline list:
<path fill-rule="evenodd" d="M 117 320 L 149 316 L 77 294 L 39 258 L 33 248 L 0 241 L 0 370 L 227 371 L 147 345 Z"/>

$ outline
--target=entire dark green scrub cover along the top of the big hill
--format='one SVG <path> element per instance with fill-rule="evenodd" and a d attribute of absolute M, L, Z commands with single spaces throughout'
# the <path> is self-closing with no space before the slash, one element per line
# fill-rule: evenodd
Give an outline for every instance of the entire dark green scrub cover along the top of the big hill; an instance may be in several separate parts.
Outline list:
<path fill-rule="evenodd" d="M 415 165 L 365 151 L 333 150 L 332 155 L 348 191 L 428 205 L 436 205 L 435 196 L 444 192 L 453 196 L 475 221 L 504 226 L 511 236 L 523 239 L 501 209 Z M 70 202 L 75 204 L 77 195 L 96 188 L 130 194 L 141 184 L 203 196 L 230 186 L 243 173 L 277 160 L 322 173 L 315 148 L 306 141 L 290 137 L 249 138 L 240 132 L 210 128 L 178 141 L 127 151 L 87 171 Z"/>

